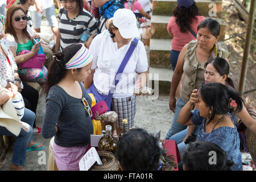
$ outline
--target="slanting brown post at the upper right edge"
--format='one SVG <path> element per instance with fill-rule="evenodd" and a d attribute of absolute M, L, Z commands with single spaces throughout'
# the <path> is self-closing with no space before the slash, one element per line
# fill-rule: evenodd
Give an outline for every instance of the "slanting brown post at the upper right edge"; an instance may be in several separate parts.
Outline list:
<path fill-rule="evenodd" d="M 242 68 L 241 68 L 239 88 L 238 88 L 241 94 L 243 94 L 245 90 L 245 80 L 246 80 L 247 66 L 248 66 L 249 53 L 250 53 L 251 36 L 253 34 L 254 16 L 255 16 L 255 0 L 251 0 L 250 16 L 249 16 L 249 21 L 247 22 L 245 48 L 243 49 L 244 50 L 243 61 L 242 61 Z"/>

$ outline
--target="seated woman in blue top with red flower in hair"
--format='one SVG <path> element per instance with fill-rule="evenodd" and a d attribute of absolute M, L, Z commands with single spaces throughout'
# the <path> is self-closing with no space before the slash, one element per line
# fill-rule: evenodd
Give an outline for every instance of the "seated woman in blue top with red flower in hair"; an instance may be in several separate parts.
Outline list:
<path fill-rule="evenodd" d="M 192 110 L 196 103 L 199 109 Z M 217 144 L 227 152 L 228 160 L 233 160 L 232 170 L 242 170 L 240 138 L 230 115 L 234 104 L 237 105 L 236 111 L 240 112 L 243 100 L 235 90 L 220 83 L 202 84 L 200 90 L 192 91 L 177 122 L 185 126 L 200 125 L 196 140 Z"/>

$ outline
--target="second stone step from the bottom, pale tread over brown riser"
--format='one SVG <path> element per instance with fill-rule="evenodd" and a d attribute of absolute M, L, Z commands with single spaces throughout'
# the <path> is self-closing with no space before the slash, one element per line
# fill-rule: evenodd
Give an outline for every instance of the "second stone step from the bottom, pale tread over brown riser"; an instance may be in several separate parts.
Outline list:
<path fill-rule="evenodd" d="M 171 42 L 172 39 L 150 39 L 150 67 L 171 69 Z M 228 51 L 225 42 L 217 42 L 217 44 Z"/>

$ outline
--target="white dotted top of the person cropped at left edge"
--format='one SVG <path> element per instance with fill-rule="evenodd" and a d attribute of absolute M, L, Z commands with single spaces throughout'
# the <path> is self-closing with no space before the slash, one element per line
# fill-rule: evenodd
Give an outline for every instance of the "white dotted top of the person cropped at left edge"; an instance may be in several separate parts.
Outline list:
<path fill-rule="evenodd" d="M 6 88 L 7 82 L 14 83 L 14 69 L 18 69 L 18 67 L 13 57 L 13 53 L 11 52 L 10 47 L 4 38 L 0 40 L 0 45 L 5 54 L 8 56 L 11 64 L 10 65 L 8 63 L 6 56 L 0 52 L 0 85 L 2 88 Z"/>

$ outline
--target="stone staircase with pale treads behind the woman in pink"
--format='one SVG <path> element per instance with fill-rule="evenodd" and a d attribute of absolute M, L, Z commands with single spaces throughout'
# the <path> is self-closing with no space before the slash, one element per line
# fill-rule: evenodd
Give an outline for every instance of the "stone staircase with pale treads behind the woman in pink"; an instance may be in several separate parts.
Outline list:
<path fill-rule="evenodd" d="M 195 2 L 201 15 L 205 18 L 216 19 L 220 23 L 221 33 L 218 44 L 227 49 L 224 43 L 226 23 L 221 19 L 222 0 L 195 0 Z M 170 92 L 173 75 L 170 63 L 172 39 L 168 34 L 167 24 L 176 5 L 176 0 L 154 0 L 152 3 L 149 73 L 159 74 L 160 93 Z M 214 17 L 212 16 L 213 13 L 215 13 Z M 151 81 L 154 82 L 154 80 L 154 76 L 152 76 Z"/>

